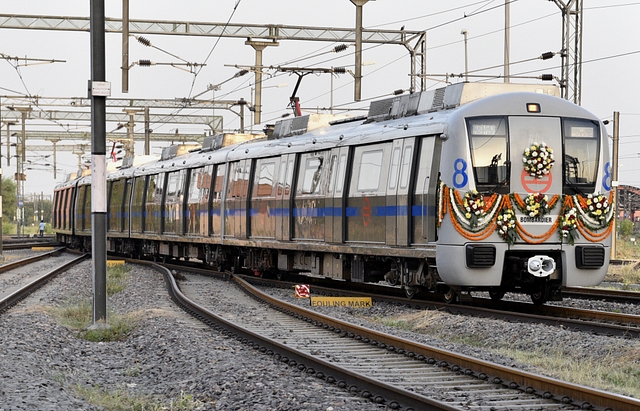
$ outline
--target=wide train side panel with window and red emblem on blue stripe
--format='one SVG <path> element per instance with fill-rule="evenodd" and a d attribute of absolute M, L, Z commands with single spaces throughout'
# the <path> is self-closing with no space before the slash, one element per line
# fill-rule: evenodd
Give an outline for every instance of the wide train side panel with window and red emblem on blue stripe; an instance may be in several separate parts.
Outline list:
<path fill-rule="evenodd" d="M 386 242 L 386 187 L 393 143 L 354 149 L 346 208 L 347 241 Z"/>

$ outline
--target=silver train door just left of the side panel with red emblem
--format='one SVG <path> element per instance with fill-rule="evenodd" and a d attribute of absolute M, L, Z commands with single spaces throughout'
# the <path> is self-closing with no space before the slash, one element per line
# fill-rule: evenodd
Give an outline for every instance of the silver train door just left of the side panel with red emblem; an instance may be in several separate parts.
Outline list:
<path fill-rule="evenodd" d="M 331 150 L 329 178 L 325 202 L 325 240 L 328 243 L 344 242 L 344 182 L 347 174 L 349 147 Z"/>

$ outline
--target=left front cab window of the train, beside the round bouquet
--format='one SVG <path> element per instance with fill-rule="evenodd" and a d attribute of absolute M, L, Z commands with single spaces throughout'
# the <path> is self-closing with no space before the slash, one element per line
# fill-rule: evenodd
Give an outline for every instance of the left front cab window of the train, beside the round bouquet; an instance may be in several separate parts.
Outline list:
<path fill-rule="evenodd" d="M 467 120 L 473 174 L 478 190 L 509 192 L 506 117 Z"/>

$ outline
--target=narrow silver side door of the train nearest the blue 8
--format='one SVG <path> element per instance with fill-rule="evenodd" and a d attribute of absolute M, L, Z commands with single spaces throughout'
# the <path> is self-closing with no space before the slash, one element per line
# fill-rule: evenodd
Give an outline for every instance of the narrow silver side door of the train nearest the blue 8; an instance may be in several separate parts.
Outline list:
<path fill-rule="evenodd" d="M 426 244 L 436 241 L 438 216 L 438 171 L 442 140 L 437 136 L 420 139 L 417 169 L 413 175 L 413 201 L 411 204 L 411 241 Z"/>

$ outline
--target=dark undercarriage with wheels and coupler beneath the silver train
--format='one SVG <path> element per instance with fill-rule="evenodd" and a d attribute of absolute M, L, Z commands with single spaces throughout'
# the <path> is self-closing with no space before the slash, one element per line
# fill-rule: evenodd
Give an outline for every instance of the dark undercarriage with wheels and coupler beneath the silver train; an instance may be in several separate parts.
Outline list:
<path fill-rule="evenodd" d="M 91 249 L 90 237 L 59 235 L 59 241 L 76 249 Z M 541 270 L 546 267 L 550 273 L 534 275 L 528 269 L 532 264 L 531 253 L 512 253 L 505 258 L 500 286 L 460 287 L 449 286 L 442 281 L 435 259 L 432 258 L 276 250 L 117 237 L 108 239 L 107 251 L 155 261 L 199 260 L 218 271 L 247 271 L 278 280 L 285 279 L 289 274 L 305 274 L 357 283 L 385 282 L 401 287 L 407 298 L 414 298 L 420 293 L 436 293 L 446 303 L 470 299 L 472 291 L 488 292 L 493 300 L 502 299 L 507 292 L 528 294 L 536 305 L 561 299 L 559 290 L 562 274 L 555 266 L 555 261 L 560 261 L 559 255 L 545 256 L 546 259 L 540 262 Z M 554 261 L 553 270 L 549 268 L 550 261 Z"/>

